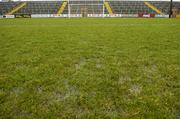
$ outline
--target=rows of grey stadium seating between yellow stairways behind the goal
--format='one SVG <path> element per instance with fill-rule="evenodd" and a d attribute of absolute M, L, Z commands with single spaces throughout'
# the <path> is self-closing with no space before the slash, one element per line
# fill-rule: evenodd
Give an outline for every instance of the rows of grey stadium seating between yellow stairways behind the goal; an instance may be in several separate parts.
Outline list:
<path fill-rule="evenodd" d="M 155 10 L 148 7 L 144 1 L 107 1 L 113 14 L 158 14 Z M 7 14 L 14 7 L 22 2 L 0 2 L 0 15 Z M 154 7 L 164 14 L 169 13 L 169 2 L 149 1 Z M 13 14 L 57 14 L 63 1 L 27 1 L 27 4 Z M 103 1 L 70 1 L 71 14 L 82 14 L 84 9 L 87 14 L 102 14 Z M 180 13 L 180 2 L 174 2 L 173 8 Z M 68 14 L 68 5 L 63 8 L 60 14 Z M 109 14 L 105 5 L 105 14 Z"/>

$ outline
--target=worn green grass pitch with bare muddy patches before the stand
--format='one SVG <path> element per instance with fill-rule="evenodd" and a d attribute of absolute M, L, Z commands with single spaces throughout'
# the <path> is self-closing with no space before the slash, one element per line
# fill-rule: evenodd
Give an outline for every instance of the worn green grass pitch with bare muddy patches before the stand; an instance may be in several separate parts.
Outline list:
<path fill-rule="evenodd" d="M 0 19 L 0 118 L 180 118 L 180 20 Z"/>

